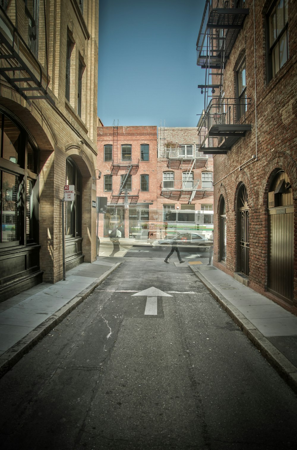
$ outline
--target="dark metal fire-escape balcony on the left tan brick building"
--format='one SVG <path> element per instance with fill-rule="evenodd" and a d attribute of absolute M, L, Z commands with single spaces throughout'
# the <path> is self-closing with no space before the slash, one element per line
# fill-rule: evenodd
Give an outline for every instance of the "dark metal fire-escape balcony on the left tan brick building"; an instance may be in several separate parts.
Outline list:
<path fill-rule="evenodd" d="M 47 99 L 54 103 L 48 92 L 49 76 L 27 46 L 2 9 L 0 9 L 0 75 L 18 94 L 30 100 Z"/>

